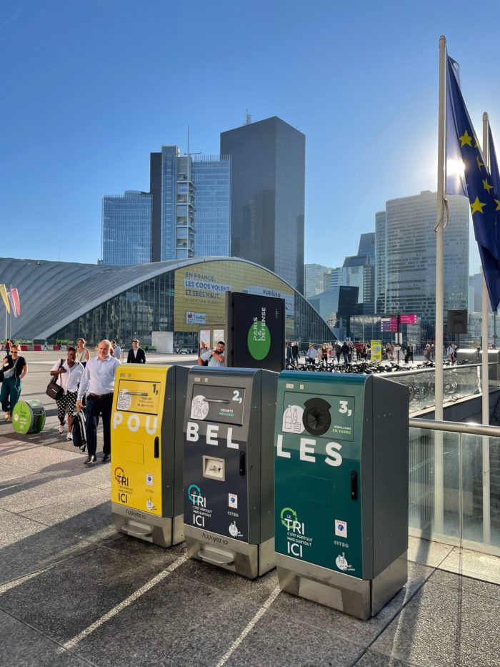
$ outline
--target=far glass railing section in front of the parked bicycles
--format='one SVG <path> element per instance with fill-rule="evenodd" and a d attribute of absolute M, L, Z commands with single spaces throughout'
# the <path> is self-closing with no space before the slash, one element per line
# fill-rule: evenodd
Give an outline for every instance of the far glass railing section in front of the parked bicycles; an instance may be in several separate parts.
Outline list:
<path fill-rule="evenodd" d="M 409 389 L 410 414 L 434 407 L 435 370 L 415 370 L 387 373 L 386 377 Z M 443 401 L 456 402 L 462 398 L 481 393 L 481 365 L 466 364 L 445 366 L 443 369 Z"/>

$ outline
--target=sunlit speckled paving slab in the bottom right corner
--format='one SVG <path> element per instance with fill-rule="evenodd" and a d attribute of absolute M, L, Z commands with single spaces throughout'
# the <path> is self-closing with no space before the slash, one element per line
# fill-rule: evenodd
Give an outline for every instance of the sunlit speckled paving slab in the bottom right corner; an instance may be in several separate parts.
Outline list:
<path fill-rule="evenodd" d="M 494 667 L 498 637 L 496 601 L 431 579 L 371 648 L 422 667 Z"/>

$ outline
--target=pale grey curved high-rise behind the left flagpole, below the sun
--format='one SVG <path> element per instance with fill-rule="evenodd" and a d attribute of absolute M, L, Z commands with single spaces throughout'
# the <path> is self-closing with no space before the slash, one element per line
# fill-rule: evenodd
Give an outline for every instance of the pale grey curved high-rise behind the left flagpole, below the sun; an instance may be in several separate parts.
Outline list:
<path fill-rule="evenodd" d="M 386 202 L 376 214 L 376 305 L 384 314 L 419 315 L 434 327 L 436 318 L 435 192 Z M 469 297 L 469 200 L 449 197 L 444 229 L 444 317 L 466 308 Z"/>

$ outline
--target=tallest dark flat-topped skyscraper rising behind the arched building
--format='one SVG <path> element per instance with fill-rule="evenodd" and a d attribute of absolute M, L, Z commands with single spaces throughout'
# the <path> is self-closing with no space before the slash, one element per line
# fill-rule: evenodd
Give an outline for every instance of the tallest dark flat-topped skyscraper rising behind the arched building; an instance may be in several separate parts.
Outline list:
<path fill-rule="evenodd" d="M 304 292 L 306 137 L 278 117 L 221 133 L 231 156 L 231 255 Z"/>

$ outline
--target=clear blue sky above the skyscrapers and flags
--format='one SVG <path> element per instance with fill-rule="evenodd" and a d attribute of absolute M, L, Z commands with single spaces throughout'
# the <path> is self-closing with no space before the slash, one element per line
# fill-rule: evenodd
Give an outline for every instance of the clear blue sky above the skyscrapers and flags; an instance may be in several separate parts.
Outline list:
<path fill-rule="evenodd" d="M 386 199 L 436 189 L 441 34 L 500 152 L 499 19 L 494 1 L 1 0 L 2 253 L 96 262 L 101 195 L 148 190 L 149 152 L 186 150 L 188 124 L 217 154 L 249 109 L 306 134 L 305 260 L 338 266 Z"/>

